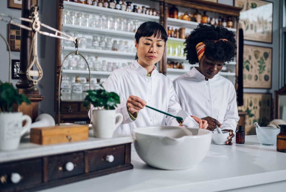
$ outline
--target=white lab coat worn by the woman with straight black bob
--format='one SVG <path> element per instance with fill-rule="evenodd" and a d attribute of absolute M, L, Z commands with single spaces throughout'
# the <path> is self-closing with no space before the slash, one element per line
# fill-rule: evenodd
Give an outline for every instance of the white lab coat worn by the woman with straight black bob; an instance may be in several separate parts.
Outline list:
<path fill-rule="evenodd" d="M 126 106 L 126 101 L 130 95 L 140 97 L 150 107 L 172 115 L 176 115 L 182 109 L 180 104 L 175 101 L 172 81 L 159 73 L 155 66 L 151 77 L 147 77 L 147 70 L 135 60 L 130 66 L 114 70 L 102 85 L 106 91 L 115 92 L 120 96 L 120 104 L 117 105 L 116 112 L 123 115 L 123 122 L 115 133 L 131 135 L 131 131 L 138 127 L 179 125 L 175 118 L 147 107 L 138 112 L 135 121 L 130 119 Z M 192 127 L 198 128 L 197 122 L 193 119 L 191 122 Z"/>

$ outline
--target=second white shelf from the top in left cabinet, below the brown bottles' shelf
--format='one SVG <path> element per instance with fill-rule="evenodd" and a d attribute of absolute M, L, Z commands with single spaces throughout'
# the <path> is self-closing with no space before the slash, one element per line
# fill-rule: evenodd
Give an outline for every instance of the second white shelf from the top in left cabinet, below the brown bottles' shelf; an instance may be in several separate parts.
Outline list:
<path fill-rule="evenodd" d="M 63 30 L 70 30 L 70 31 L 78 31 L 78 32 L 90 32 L 90 33 L 96 33 L 100 35 L 110 35 L 110 36 L 116 36 L 116 37 L 126 37 L 130 39 L 135 38 L 134 32 L 128 32 L 128 31 L 114 31 L 114 30 L 108 30 L 108 29 L 100 29 L 95 27 L 84 27 L 84 26 L 78 26 L 78 25 L 72 25 L 72 24 L 63 24 Z"/>

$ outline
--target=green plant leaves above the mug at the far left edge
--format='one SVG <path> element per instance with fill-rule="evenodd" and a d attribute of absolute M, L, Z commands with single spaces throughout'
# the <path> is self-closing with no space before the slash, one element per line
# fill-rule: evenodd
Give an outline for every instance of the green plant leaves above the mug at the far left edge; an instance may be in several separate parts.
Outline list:
<path fill-rule="evenodd" d="M 20 105 L 22 102 L 30 104 L 31 101 L 25 94 L 19 94 L 13 85 L 0 81 L 0 107 L 1 112 L 11 112 L 13 104 Z"/>

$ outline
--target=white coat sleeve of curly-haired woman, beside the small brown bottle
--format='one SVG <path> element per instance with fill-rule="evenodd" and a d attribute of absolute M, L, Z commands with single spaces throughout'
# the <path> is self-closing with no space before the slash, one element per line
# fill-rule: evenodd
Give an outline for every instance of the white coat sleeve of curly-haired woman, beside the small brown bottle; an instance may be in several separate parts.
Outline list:
<path fill-rule="evenodd" d="M 229 96 L 229 102 L 227 105 L 227 111 L 225 112 L 225 117 L 223 119 L 223 125 L 221 126 L 221 130 L 231 129 L 233 130 L 233 132 L 235 132 L 238 121 L 239 116 L 237 109 L 236 92 L 234 87 L 232 87 L 231 94 Z"/>

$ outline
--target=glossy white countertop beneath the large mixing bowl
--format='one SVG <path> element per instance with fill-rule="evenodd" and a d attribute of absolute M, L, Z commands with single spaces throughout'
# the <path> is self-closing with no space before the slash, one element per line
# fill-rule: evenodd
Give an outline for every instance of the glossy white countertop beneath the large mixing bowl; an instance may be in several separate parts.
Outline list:
<path fill-rule="evenodd" d="M 276 146 L 261 146 L 256 135 L 245 136 L 245 144 L 234 142 L 229 146 L 212 143 L 202 162 L 181 171 L 149 167 L 132 148 L 132 170 L 62 185 L 43 192 L 240 191 L 238 188 L 255 185 L 262 187 L 259 191 L 275 191 L 275 186 L 283 191 L 286 186 L 285 160 L 286 153 L 277 152 Z M 253 189 L 249 190 L 257 190 Z"/>

